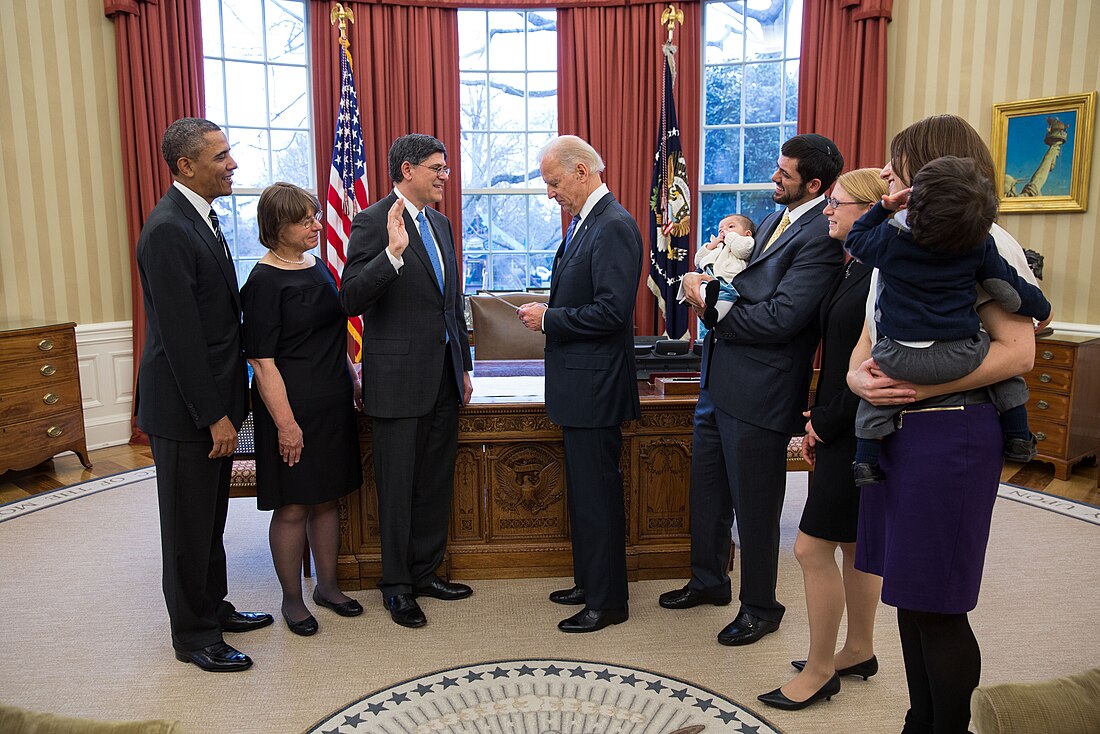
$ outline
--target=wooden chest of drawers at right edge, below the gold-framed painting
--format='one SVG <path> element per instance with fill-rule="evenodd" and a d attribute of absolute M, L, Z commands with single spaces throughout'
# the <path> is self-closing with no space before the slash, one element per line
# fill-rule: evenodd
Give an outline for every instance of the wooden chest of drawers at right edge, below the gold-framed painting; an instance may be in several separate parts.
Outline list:
<path fill-rule="evenodd" d="M 1072 465 L 1100 451 L 1100 337 L 1055 332 L 1035 344 L 1024 375 L 1027 417 L 1038 437 L 1038 460 L 1069 479 Z"/>

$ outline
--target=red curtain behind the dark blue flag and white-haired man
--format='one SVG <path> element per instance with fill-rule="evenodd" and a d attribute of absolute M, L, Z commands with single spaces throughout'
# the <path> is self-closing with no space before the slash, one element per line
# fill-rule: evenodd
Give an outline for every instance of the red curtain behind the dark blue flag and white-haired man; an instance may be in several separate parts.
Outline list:
<path fill-rule="evenodd" d="M 595 147 L 607 166 L 604 182 L 641 228 L 642 276 L 635 302 L 635 331 L 649 333 L 654 298 L 649 276 L 649 196 L 660 113 L 668 30 L 660 3 L 598 3 L 558 12 L 558 130 L 579 135 Z M 702 3 L 678 3 L 684 23 L 674 35 L 674 96 L 688 171 L 698 171 L 700 89 L 702 83 Z M 697 182 L 692 209 L 698 211 Z M 698 219 L 692 218 L 691 241 Z M 656 332 L 660 333 L 663 324 Z"/>

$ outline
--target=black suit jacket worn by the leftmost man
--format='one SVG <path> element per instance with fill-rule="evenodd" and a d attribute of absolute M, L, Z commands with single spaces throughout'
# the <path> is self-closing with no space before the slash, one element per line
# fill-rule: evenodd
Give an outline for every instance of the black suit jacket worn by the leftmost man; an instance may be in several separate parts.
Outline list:
<path fill-rule="evenodd" d="M 241 294 L 226 250 L 173 185 L 138 240 L 145 349 L 138 371 L 138 427 L 178 441 L 209 441 L 248 409 Z"/>

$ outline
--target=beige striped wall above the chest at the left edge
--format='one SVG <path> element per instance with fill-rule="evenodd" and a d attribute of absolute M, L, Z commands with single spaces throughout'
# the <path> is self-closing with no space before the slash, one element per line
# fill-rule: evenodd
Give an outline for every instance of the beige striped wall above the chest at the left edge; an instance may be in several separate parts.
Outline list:
<path fill-rule="evenodd" d="M 0 320 L 129 320 L 111 22 L 99 0 L 3 4 Z"/>

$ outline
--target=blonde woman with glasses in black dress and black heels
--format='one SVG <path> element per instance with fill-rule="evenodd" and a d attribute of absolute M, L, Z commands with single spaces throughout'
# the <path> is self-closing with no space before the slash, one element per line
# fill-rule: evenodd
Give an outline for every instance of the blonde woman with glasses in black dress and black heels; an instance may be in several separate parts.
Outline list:
<path fill-rule="evenodd" d="M 844 241 L 848 230 L 883 194 L 878 168 L 843 174 L 827 200 L 829 235 Z M 871 269 L 849 260 L 822 303 L 822 368 L 817 399 L 804 415 L 803 457 L 814 467 L 813 484 L 799 524 L 794 556 L 802 567 L 810 622 L 807 660 L 782 688 L 760 700 L 781 709 L 802 709 L 839 690 L 839 676 L 865 680 L 878 671 L 873 653 L 875 613 L 881 579 L 855 568 L 859 489 L 853 479 L 856 407 L 846 382 L 848 360 L 864 328 Z M 840 548 L 844 569 L 836 565 Z M 848 611 L 844 647 L 836 649 L 840 617 Z"/>

